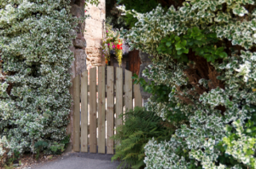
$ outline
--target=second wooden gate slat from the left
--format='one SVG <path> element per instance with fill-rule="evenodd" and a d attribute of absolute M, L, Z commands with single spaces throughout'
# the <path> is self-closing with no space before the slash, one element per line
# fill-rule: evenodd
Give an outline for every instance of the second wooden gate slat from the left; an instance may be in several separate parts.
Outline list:
<path fill-rule="evenodd" d="M 88 152 L 88 70 L 81 76 L 81 152 Z"/>

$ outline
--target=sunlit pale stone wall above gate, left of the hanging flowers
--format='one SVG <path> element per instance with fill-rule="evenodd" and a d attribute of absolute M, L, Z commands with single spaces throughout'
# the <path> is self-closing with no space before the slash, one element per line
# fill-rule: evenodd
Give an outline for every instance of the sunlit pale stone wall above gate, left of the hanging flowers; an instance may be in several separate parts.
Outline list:
<path fill-rule="evenodd" d="M 85 49 L 87 54 L 87 68 L 105 65 L 105 59 L 102 57 L 101 44 L 104 33 L 104 24 L 106 18 L 105 0 L 99 0 L 98 6 L 88 4 L 86 14 L 90 18 L 85 20 L 84 38 L 87 42 Z"/>

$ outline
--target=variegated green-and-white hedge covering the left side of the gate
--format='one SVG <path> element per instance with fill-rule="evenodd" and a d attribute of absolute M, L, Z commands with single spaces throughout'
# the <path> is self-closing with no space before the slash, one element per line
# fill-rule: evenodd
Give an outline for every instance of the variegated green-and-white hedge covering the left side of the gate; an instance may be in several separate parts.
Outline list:
<path fill-rule="evenodd" d="M 0 1 L 0 156 L 63 148 L 76 19 L 66 0 Z M 56 148 L 58 147 L 58 148 Z M 43 150 L 43 149 L 40 149 Z"/>

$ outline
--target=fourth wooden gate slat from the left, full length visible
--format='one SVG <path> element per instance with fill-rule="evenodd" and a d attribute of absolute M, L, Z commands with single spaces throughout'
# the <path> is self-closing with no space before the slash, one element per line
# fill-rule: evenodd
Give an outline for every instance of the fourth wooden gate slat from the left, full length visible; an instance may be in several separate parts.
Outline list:
<path fill-rule="evenodd" d="M 98 76 L 98 85 L 99 85 L 99 92 L 98 92 L 98 114 L 99 114 L 99 120 L 98 120 L 98 153 L 105 154 L 105 146 L 106 146 L 106 140 L 105 140 L 105 109 L 106 109 L 106 103 L 105 103 L 105 66 L 99 67 L 99 76 Z"/>

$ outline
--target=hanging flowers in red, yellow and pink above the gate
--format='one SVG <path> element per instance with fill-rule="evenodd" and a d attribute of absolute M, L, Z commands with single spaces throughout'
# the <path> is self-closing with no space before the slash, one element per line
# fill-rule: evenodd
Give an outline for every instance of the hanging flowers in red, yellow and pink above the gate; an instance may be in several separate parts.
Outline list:
<path fill-rule="evenodd" d="M 119 33 L 113 31 L 111 26 L 107 28 L 106 35 L 106 38 L 102 40 L 102 53 L 103 57 L 105 57 L 105 62 L 108 65 L 108 61 L 110 61 L 110 51 L 114 50 L 114 54 L 120 66 L 123 55 L 123 39 L 119 38 Z"/>

